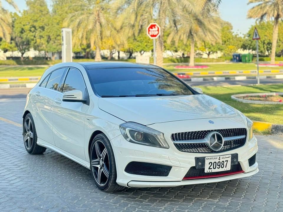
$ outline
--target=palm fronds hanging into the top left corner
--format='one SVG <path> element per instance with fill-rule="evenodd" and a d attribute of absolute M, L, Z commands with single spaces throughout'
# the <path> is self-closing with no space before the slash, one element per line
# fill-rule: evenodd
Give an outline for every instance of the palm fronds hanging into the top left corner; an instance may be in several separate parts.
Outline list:
<path fill-rule="evenodd" d="M 10 4 L 14 9 L 19 11 L 17 5 L 13 0 L 6 0 L 8 4 Z M 5 39 L 7 42 L 11 39 L 12 33 L 12 19 L 10 13 L 3 8 L 2 1 L 0 0 L 0 37 Z"/>

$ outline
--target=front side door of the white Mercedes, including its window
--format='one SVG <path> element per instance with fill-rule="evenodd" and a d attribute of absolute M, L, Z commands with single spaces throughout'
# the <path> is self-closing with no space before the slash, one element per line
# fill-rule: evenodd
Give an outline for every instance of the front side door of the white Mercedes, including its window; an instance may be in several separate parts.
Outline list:
<path fill-rule="evenodd" d="M 84 121 L 88 105 L 82 102 L 63 102 L 63 93 L 70 90 L 87 93 L 83 75 L 75 68 L 68 70 L 62 92 L 54 97 L 53 137 L 58 148 L 85 160 Z"/>

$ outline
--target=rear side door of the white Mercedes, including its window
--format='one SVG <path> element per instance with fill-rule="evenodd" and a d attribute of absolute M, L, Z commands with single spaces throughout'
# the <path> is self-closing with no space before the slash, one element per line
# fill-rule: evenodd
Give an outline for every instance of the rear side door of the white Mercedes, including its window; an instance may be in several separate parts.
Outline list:
<path fill-rule="evenodd" d="M 55 144 L 52 136 L 53 99 L 58 93 L 58 89 L 60 89 L 60 83 L 62 84 L 62 76 L 65 70 L 66 68 L 59 68 L 47 75 L 34 91 L 35 95 L 33 97 L 35 105 L 34 123 L 37 137 L 53 145 Z"/>

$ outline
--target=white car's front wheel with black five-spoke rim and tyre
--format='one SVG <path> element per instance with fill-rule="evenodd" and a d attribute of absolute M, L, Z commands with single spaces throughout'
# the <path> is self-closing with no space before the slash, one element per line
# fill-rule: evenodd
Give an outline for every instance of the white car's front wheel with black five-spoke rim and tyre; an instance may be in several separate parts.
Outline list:
<path fill-rule="evenodd" d="M 116 183 L 117 172 L 114 153 L 106 135 L 101 133 L 93 138 L 89 155 L 91 175 L 101 191 L 111 192 L 125 188 Z"/>

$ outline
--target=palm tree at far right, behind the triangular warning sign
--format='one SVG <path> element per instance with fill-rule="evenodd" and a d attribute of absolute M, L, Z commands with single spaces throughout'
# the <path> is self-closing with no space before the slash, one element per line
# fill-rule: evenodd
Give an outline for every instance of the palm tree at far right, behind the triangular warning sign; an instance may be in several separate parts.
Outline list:
<path fill-rule="evenodd" d="M 271 63 L 275 63 L 275 52 L 278 38 L 279 21 L 283 18 L 283 0 L 249 0 L 248 4 L 258 3 L 248 11 L 248 18 L 259 19 L 260 21 L 274 19 Z"/>

